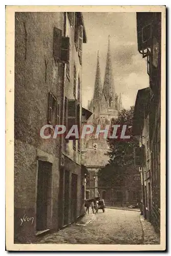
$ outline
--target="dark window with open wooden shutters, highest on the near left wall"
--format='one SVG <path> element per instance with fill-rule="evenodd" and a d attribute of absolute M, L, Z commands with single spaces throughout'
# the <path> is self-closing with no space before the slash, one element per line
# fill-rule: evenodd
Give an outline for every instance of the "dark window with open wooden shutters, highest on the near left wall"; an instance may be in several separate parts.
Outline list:
<path fill-rule="evenodd" d="M 54 27 L 53 56 L 56 62 L 69 63 L 70 38 L 63 37 L 62 31 Z"/>

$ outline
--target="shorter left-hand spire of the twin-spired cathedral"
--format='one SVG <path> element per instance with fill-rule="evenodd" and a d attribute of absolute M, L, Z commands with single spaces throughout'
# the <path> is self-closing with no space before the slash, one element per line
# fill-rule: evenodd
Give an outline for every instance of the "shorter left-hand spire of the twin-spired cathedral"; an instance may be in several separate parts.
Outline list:
<path fill-rule="evenodd" d="M 101 96 L 102 96 L 102 83 L 101 83 L 101 76 L 100 76 L 100 63 L 99 63 L 99 51 L 98 51 L 93 100 L 100 100 Z"/>

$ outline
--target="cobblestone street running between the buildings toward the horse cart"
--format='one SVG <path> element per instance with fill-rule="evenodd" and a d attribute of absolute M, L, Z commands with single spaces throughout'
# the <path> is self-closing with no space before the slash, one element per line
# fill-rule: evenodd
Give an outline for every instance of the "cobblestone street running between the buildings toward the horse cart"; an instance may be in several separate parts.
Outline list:
<path fill-rule="evenodd" d="M 159 244 L 153 226 L 138 211 L 106 208 L 55 233 L 37 238 L 37 244 Z"/>

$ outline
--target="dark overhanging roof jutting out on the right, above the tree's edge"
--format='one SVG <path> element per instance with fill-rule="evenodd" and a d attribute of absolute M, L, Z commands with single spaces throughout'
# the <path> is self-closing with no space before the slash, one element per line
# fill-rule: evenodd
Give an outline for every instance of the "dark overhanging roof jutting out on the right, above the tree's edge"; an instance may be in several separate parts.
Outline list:
<path fill-rule="evenodd" d="M 150 88 L 144 88 L 138 90 L 135 107 L 134 107 L 134 117 L 133 117 L 133 135 L 137 136 L 141 134 L 143 129 L 143 122 L 145 114 L 148 110 L 150 97 Z"/>

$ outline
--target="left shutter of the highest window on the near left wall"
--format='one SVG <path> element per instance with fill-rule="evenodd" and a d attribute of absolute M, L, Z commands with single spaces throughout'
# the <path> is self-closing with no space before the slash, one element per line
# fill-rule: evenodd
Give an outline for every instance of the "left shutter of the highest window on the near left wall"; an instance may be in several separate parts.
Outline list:
<path fill-rule="evenodd" d="M 56 61 L 60 61 L 61 39 L 62 39 L 62 31 L 54 27 L 53 56 Z"/>

